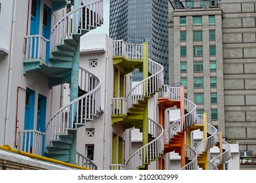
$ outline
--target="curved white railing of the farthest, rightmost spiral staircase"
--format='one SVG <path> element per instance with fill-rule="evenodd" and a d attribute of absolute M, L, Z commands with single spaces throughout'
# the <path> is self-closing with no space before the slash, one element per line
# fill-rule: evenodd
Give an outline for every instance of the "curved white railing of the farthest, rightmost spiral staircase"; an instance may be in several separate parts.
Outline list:
<path fill-rule="evenodd" d="M 217 133 L 217 139 L 217 141 L 219 141 L 219 133 Z M 228 161 L 231 156 L 231 147 L 228 142 L 222 141 L 222 148 L 225 150 L 225 152 L 215 157 L 211 161 L 216 167 Z"/>

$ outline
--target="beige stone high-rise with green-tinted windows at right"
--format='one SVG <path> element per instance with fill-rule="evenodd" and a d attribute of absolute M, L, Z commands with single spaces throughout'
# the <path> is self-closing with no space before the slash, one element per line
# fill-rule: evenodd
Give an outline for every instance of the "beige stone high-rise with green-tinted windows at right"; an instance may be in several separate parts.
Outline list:
<path fill-rule="evenodd" d="M 169 3 L 170 82 L 181 81 L 228 142 L 256 154 L 256 2 Z"/>

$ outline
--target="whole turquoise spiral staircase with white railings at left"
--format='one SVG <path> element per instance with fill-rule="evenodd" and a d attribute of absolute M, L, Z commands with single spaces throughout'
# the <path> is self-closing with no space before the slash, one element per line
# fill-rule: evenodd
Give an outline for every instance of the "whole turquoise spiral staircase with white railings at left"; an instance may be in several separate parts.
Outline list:
<path fill-rule="evenodd" d="M 80 52 L 82 35 L 103 24 L 103 0 L 86 2 L 60 18 L 50 33 L 50 39 L 42 35 L 24 38 L 24 75 L 32 71 L 40 73 L 48 78 L 50 88 L 71 83 L 71 70 L 77 60 L 76 54 Z M 76 164 L 86 161 L 87 165 L 93 165 L 90 159 L 78 152 L 71 153 L 71 148 L 75 144 L 77 128 L 94 120 L 101 112 L 101 81 L 81 67 L 78 69 L 80 95 L 55 112 L 46 123 L 45 156 Z M 98 166 L 94 164 L 91 169 L 98 169 Z"/>

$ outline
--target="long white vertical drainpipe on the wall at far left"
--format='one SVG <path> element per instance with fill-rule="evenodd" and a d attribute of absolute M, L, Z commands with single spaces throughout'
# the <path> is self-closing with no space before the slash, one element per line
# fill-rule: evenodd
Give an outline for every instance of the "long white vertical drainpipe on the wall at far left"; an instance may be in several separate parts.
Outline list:
<path fill-rule="evenodd" d="M 7 84 L 7 103 L 6 103 L 6 111 L 5 111 L 5 131 L 4 131 L 4 137 L 3 137 L 3 142 L 4 144 L 8 143 L 8 127 L 9 127 L 9 116 L 10 116 L 10 91 L 11 91 L 11 84 L 12 84 L 12 65 L 13 65 L 13 54 L 12 54 L 12 49 L 14 46 L 14 31 L 15 31 L 15 25 L 16 25 L 16 0 L 13 0 L 13 5 L 12 5 L 12 25 L 10 27 L 10 44 L 9 44 L 9 51 L 10 51 L 10 56 L 9 56 L 9 69 L 8 69 L 8 84 Z"/>

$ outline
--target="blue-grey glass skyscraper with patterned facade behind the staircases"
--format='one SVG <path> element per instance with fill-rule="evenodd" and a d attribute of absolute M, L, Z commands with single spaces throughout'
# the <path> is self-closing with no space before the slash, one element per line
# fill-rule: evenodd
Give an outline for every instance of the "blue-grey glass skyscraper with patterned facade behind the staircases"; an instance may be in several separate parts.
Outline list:
<path fill-rule="evenodd" d="M 129 43 L 149 42 L 149 58 L 164 66 L 168 84 L 168 1 L 111 0 L 109 36 Z M 134 81 L 141 80 L 138 71 Z"/>

